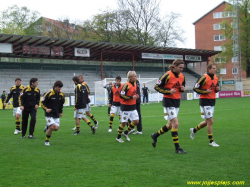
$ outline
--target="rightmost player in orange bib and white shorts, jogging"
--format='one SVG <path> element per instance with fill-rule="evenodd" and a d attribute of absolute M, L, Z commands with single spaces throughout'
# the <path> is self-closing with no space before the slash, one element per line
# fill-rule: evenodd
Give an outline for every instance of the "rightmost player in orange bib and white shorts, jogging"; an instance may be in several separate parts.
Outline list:
<path fill-rule="evenodd" d="M 215 74 L 215 64 L 209 64 L 207 66 L 207 74 L 204 74 L 194 85 L 194 91 L 200 94 L 201 117 L 205 119 L 205 121 L 202 121 L 195 128 L 190 129 L 190 138 L 193 140 L 195 133 L 207 126 L 209 145 L 219 147 L 219 145 L 213 140 L 212 129 L 212 125 L 214 123 L 213 115 L 216 92 L 220 91 L 218 78 Z"/>

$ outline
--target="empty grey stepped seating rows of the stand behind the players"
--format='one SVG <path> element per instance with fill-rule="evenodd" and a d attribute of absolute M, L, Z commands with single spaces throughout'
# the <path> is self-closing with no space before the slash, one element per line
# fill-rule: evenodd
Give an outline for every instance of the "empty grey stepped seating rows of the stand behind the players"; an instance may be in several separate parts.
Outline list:
<path fill-rule="evenodd" d="M 85 82 L 88 83 L 91 94 L 95 92 L 94 82 L 100 81 L 100 73 L 96 70 L 48 70 L 43 66 L 42 69 L 0 69 L 0 87 L 1 90 L 9 90 L 11 86 L 14 85 L 14 80 L 17 77 L 22 79 L 23 85 L 28 85 L 29 80 L 32 77 L 37 77 L 39 80 L 38 87 L 41 93 L 44 93 L 52 88 L 56 80 L 61 80 L 64 83 L 63 92 L 73 94 L 74 84 L 72 82 L 72 77 L 74 75 L 83 74 Z M 120 75 L 122 77 L 126 76 L 126 72 L 129 68 L 119 68 L 105 70 L 106 78 L 115 78 Z M 137 75 L 140 78 L 159 78 L 163 74 L 163 71 L 137 71 Z M 190 73 L 183 72 L 186 77 L 186 90 L 192 90 L 197 78 Z"/>

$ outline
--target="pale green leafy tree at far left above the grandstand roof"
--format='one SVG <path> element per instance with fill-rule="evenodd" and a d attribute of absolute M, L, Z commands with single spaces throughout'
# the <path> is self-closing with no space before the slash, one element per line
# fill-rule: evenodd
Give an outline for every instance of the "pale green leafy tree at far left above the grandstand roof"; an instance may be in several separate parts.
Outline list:
<path fill-rule="evenodd" d="M 1 12 L 0 32 L 3 34 L 34 35 L 35 28 L 29 27 L 40 13 L 17 5 Z"/>

